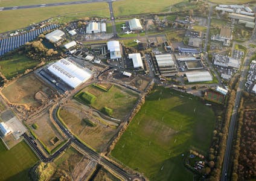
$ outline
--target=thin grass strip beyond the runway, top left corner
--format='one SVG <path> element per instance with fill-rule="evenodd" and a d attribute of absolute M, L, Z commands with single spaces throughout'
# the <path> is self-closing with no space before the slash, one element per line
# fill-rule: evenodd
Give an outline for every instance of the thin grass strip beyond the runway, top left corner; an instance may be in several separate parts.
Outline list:
<path fill-rule="evenodd" d="M 79 0 L 1 0 L 0 7 L 12 7 L 19 5 L 48 4 L 54 2 L 71 2 Z M 88 0 L 89 1 L 89 0 Z"/>

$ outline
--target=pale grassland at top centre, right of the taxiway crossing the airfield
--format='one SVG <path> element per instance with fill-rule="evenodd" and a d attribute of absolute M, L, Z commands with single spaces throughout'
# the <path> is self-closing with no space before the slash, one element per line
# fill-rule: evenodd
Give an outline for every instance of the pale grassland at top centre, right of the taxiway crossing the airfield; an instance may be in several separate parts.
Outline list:
<path fill-rule="evenodd" d="M 170 6 L 184 0 L 126 0 L 113 3 L 115 16 L 127 16 L 130 14 L 168 12 Z"/>

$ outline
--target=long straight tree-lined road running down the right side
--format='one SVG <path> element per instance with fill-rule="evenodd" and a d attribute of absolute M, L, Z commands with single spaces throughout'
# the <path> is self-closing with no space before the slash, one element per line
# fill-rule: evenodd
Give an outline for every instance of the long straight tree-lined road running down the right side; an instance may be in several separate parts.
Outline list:
<path fill-rule="evenodd" d="M 240 103 L 240 98 L 241 94 L 243 91 L 243 86 L 245 85 L 245 80 L 246 80 L 246 74 L 247 74 L 247 69 L 250 63 L 250 57 L 252 56 L 253 51 L 249 51 L 248 54 L 246 55 L 245 62 L 243 63 L 242 66 L 242 75 L 240 77 L 240 82 L 237 88 L 237 94 L 235 95 L 235 106 L 232 111 L 232 116 L 231 116 L 231 121 L 229 125 L 229 131 L 228 131 L 228 141 L 226 142 L 226 151 L 225 151 L 225 156 L 223 160 L 223 167 L 222 167 L 222 177 L 221 180 L 231 180 L 228 178 L 228 167 L 229 164 L 231 163 L 229 160 L 230 154 L 231 154 L 231 148 L 232 148 L 232 141 L 233 141 L 233 136 L 234 136 L 234 129 L 235 129 L 235 121 L 237 118 L 237 109 L 238 105 Z"/>

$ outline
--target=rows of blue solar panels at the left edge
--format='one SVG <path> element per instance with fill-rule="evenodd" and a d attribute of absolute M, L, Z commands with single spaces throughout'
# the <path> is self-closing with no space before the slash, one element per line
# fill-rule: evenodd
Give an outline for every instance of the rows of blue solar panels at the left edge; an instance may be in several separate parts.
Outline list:
<path fill-rule="evenodd" d="M 19 48 L 26 42 L 30 42 L 31 40 L 36 39 L 36 37 L 44 31 L 52 30 L 57 27 L 58 25 L 51 24 L 40 29 L 29 31 L 28 33 L 20 34 L 18 36 L 0 39 L 0 56 L 4 55 L 9 51 L 12 51 L 13 49 Z"/>

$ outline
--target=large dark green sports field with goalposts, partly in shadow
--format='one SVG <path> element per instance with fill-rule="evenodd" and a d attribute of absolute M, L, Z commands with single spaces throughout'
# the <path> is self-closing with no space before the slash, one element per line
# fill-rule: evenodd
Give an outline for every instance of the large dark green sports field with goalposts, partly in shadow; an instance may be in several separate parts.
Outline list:
<path fill-rule="evenodd" d="M 197 98 L 155 87 L 111 155 L 150 180 L 193 180 L 182 153 L 210 147 L 216 117 Z"/>

